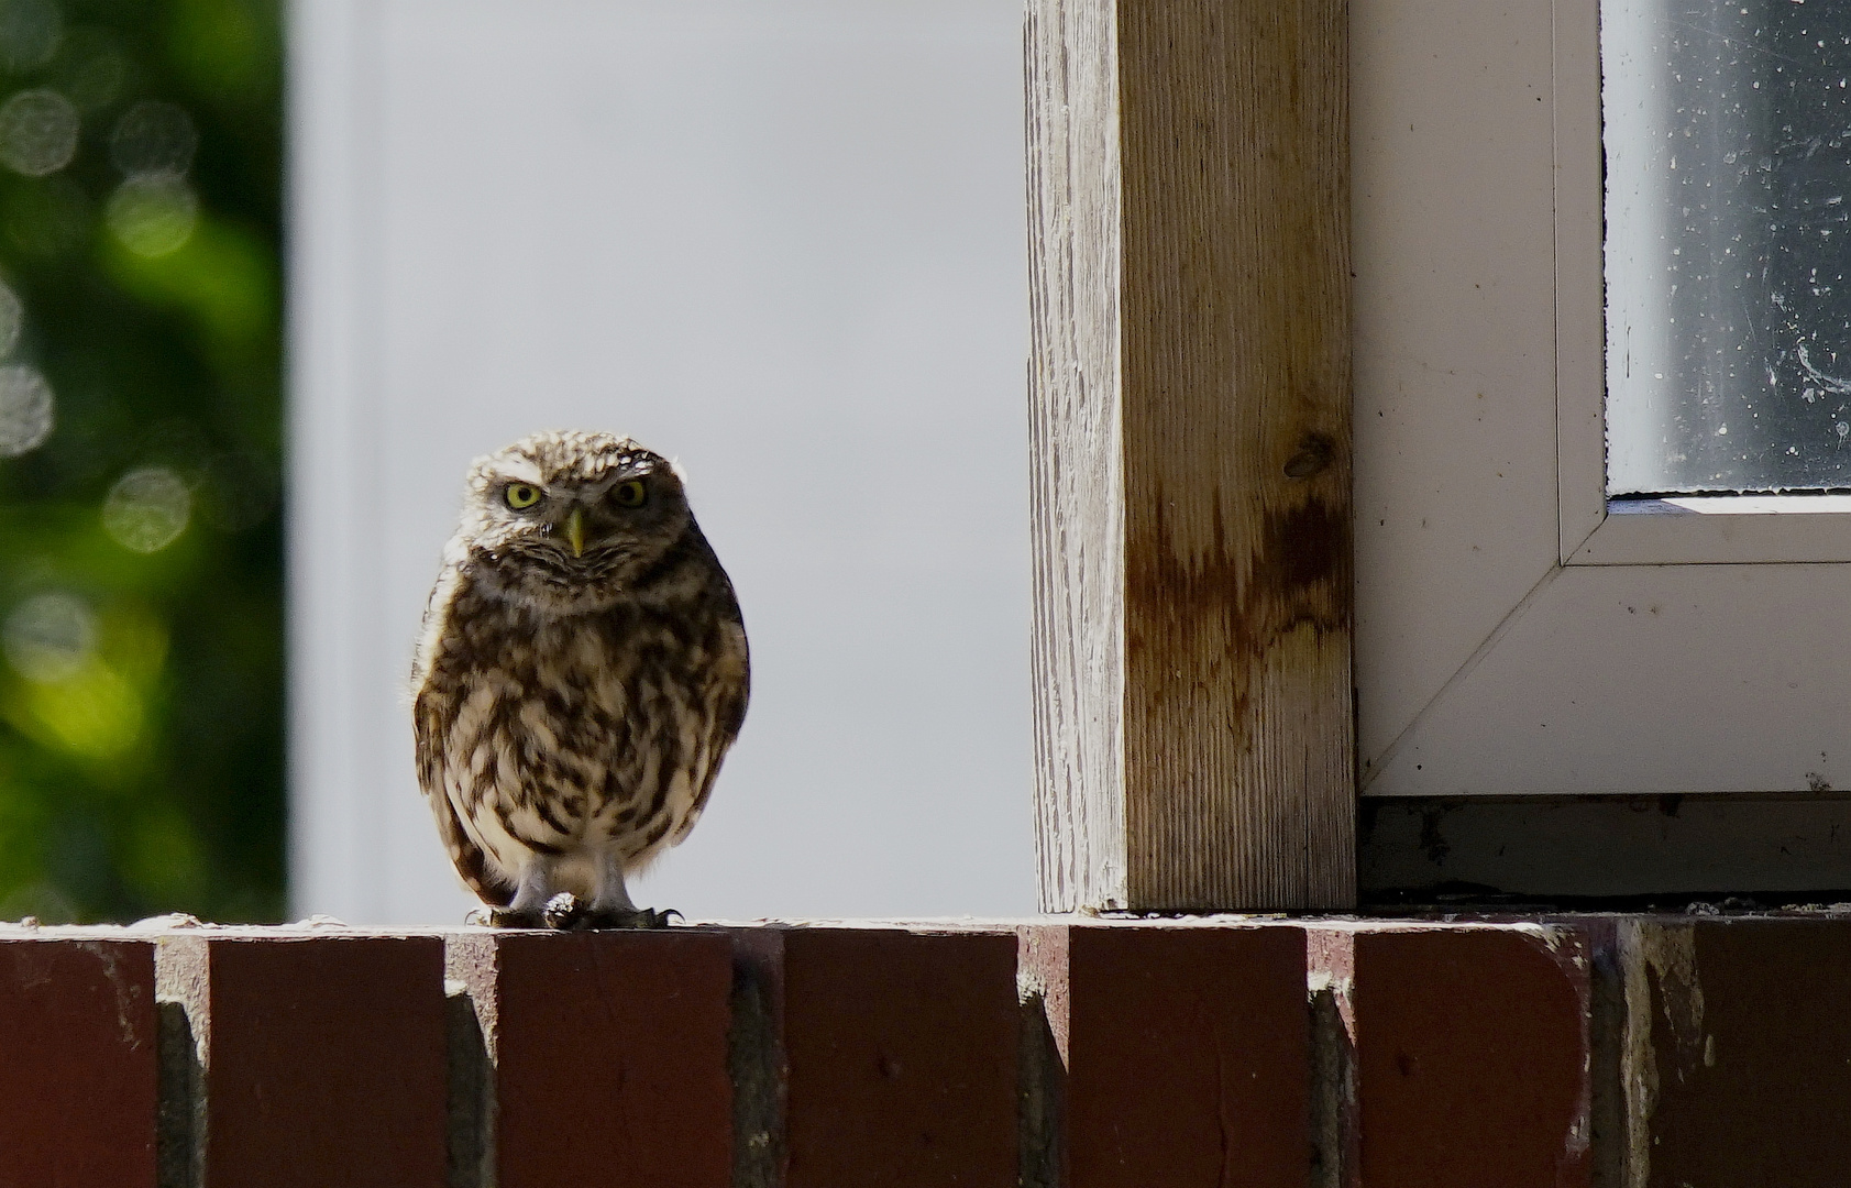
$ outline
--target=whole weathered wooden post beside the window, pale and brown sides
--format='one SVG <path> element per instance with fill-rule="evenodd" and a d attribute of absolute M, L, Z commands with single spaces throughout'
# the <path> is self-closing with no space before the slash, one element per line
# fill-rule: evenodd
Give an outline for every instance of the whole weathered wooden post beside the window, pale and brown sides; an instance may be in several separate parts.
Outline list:
<path fill-rule="evenodd" d="M 1048 910 L 1355 899 L 1348 9 L 1029 0 Z"/>

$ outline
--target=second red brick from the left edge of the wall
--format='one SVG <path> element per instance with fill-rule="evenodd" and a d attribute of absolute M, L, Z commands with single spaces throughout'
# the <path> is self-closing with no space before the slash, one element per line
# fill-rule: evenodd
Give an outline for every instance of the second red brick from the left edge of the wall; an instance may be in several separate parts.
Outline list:
<path fill-rule="evenodd" d="M 444 1184 L 437 936 L 168 934 L 161 988 L 205 1044 L 205 1182 Z"/>

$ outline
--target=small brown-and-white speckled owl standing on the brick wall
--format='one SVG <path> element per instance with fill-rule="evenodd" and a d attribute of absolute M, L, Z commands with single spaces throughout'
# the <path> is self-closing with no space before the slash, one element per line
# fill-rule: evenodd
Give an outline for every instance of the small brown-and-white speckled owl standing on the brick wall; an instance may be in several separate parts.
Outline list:
<path fill-rule="evenodd" d="M 746 627 L 676 468 L 626 437 L 476 459 L 411 672 L 418 783 L 500 925 L 655 925 L 746 716 Z"/>

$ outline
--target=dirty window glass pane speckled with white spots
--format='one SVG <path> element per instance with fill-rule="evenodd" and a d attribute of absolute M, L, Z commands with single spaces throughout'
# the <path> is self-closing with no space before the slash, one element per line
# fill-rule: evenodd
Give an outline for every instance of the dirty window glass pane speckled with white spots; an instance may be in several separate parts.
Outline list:
<path fill-rule="evenodd" d="M 1603 0 L 1607 489 L 1851 489 L 1851 4 Z"/>

